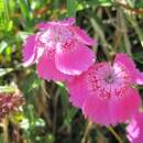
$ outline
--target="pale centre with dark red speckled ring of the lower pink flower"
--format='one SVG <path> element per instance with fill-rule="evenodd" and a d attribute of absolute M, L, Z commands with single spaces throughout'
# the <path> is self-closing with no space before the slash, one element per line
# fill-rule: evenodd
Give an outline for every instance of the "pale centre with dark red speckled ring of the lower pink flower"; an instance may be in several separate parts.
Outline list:
<path fill-rule="evenodd" d="M 92 66 L 87 74 L 88 90 L 100 98 L 123 97 L 130 78 L 122 67 L 100 63 Z"/>

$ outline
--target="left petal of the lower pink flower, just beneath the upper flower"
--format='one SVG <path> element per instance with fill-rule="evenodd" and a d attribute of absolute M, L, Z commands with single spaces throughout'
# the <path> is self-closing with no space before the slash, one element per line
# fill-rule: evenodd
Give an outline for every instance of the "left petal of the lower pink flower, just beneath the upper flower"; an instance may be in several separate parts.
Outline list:
<path fill-rule="evenodd" d="M 73 106 L 81 108 L 82 103 L 88 97 L 87 85 L 85 82 L 85 75 L 79 75 L 73 79 L 72 82 L 67 84 L 69 91 L 69 100 Z"/>

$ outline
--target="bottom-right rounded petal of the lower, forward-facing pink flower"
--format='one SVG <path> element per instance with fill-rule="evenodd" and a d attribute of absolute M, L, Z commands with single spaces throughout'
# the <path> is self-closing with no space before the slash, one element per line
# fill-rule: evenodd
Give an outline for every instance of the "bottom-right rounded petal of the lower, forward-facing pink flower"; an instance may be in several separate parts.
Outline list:
<path fill-rule="evenodd" d="M 141 97 L 135 88 L 127 88 L 124 97 L 119 98 L 119 100 L 111 100 L 110 106 L 112 106 L 112 118 L 119 122 L 125 122 L 139 112 L 141 107 Z"/>

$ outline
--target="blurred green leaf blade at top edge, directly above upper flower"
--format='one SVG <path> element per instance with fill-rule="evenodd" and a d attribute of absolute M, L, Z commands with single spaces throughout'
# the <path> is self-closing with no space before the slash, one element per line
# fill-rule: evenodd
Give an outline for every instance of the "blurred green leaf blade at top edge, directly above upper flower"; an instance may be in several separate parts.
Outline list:
<path fill-rule="evenodd" d="M 67 0 L 67 14 L 68 16 L 76 16 L 77 11 L 77 1 L 76 0 Z"/>

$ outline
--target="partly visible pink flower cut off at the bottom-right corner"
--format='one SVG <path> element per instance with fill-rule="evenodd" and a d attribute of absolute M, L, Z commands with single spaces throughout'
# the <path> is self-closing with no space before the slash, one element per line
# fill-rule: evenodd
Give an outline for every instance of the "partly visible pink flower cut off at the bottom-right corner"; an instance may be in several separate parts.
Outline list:
<path fill-rule="evenodd" d="M 130 143 L 143 143 L 143 112 L 138 113 L 127 127 Z"/>

